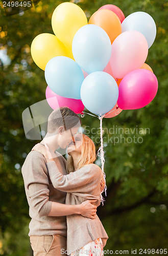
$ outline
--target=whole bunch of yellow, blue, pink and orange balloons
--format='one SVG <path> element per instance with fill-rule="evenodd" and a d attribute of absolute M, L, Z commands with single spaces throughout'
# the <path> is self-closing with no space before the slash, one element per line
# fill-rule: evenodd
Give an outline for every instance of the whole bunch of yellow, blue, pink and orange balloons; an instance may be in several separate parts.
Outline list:
<path fill-rule="evenodd" d="M 52 28 L 55 35 L 39 34 L 31 45 L 52 109 L 68 106 L 79 114 L 85 106 L 110 118 L 154 99 L 158 81 L 145 61 L 156 25 L 148 13 L 125 18 L 117 6 L 104 5 L 87 21 L 78 5 L 66 2 L 54 10 Z"/>

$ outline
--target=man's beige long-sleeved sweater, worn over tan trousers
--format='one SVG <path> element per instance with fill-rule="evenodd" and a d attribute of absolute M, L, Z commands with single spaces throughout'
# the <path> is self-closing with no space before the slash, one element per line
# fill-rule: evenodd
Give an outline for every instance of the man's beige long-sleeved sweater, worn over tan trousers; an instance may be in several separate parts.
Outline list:
<path fill-rule="evenodd" d="M 57 153 L 57 155 L 59 155 L 60 164 L 63 166 L 60 172 L 66 175 L 66 160 L 61 154 Z M 37 151 L 31 151 L 22 165 L 21 173 L 30 207 L 29 236 L 60 234 L 66 237 L 66 216 L 47 216 L 52 202 L 65 204 L 66 192 L 54 188 L 44 156 Z"/>

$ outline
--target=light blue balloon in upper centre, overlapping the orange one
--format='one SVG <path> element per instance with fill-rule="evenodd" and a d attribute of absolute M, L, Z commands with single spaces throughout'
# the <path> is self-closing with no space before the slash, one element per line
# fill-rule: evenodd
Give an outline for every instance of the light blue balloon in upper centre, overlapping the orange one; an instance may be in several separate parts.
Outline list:
<path fill-rule="evenodd" d="M 88 74 L 103 71 L 111 56 L 111 41 L 99 26 L 88 24 L 80 28 L 72 45 L 74 59 Z"/>

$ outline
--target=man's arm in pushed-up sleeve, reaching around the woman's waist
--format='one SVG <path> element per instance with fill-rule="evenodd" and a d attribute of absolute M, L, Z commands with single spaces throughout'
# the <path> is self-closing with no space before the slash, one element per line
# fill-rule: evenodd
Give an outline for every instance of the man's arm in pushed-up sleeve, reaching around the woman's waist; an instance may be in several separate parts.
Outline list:
<path fill-rule="evenodd" d="M 97 207 L 90 202 L 87 202 L 86 205 L 65 205 L 49 201 L 49 180 L 44 158 L 33 156 L 28 159 L 22 167 L 22 176 L 31 202 L 30 207 L 37 211 L 39 216 L 81 214 L 92 219 L 92 216 L 95 215 Z"/>

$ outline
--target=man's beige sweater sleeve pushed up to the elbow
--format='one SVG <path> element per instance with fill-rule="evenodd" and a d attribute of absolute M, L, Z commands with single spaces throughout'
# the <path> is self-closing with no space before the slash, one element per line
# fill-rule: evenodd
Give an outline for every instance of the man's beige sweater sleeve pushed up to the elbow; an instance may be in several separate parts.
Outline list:
<path fill-rule="evenodd" d="M 49 215 L 52 201 L 49 201 L 49 179 L 45 160 L 33 156 L 23 164 L 21 172 L 30 199 L 30 208 L 37 211 L 39 216 Z"/>

